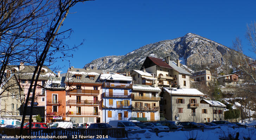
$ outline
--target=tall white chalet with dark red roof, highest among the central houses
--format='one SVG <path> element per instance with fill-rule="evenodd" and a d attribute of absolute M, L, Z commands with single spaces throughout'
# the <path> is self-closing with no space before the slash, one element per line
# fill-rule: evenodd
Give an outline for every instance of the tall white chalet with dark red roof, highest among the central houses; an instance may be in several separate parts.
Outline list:
<path fill-rule="evenodd" d="M 157 85 L 159 87 L 179 86 L 181 88 L 190 88 L 190 75 L 180 67 L 180 61 L 177 63 L 170 61 L 169 57 L 165 59 L 146 57 L 141 66 L 148 73 L 155 73 L 157 76 Z"/>

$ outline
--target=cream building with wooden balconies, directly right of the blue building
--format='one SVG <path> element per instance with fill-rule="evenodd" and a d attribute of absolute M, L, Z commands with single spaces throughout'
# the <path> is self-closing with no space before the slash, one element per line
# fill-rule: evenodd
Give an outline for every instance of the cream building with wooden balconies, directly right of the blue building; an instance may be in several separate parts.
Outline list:
<path fill-rule="evenodd" d="M 134 84 L 132 93 L 132 120 L 160 120 L 160 92 L 159 87 Z"/>

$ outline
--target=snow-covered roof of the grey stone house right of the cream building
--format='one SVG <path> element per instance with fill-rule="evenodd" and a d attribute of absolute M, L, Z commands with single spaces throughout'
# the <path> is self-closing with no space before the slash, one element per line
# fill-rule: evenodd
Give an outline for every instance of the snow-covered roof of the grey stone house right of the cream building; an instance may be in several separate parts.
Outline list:
<path fill-rule="evenodd" d="M 169 88 L 164 87 L 164 90 L 167 91 L 168 93 L 179 94 L 179 95 L 198 95 L 198 96 L 203 96 L 204 95 L 204 93 L 200 92 L 197 89 L 188 89 L 188 88 L 177 89 L 177 88 L 172 88 L 172 91 L 171 91 Z"/>

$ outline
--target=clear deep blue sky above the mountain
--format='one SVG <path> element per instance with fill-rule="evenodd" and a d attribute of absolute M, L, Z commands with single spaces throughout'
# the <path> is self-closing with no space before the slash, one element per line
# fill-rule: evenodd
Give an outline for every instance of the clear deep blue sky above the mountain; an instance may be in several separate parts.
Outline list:
<path fill-rule="evenodd" d="M 143 45 L 194 33 L 232 47 L 232 40 L 245 40 L 247 23 L 256 20 L 256 1 L 172 1 L 172 0 L 95 0 L 78 3 L 62 30 L 72 28 L 70 46 L 83 45 L 72 52 L 70 65 L 83 66 L 96 58 L 124 55 Z M 69 62 L 58 61 L 63 72 Z"/>

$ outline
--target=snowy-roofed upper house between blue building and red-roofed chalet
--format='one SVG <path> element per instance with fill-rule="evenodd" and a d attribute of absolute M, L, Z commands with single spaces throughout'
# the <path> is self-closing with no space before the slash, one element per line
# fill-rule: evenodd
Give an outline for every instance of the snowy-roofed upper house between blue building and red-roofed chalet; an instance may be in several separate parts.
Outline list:
<path fill-rule="evenodd" d="M 143 71 L 132 70 L 130 76 L 133 78 L 134 84 L 157 86 L 157 76 L 154 73 L 146 72 L 146 69 L 143 69 Z"/>

